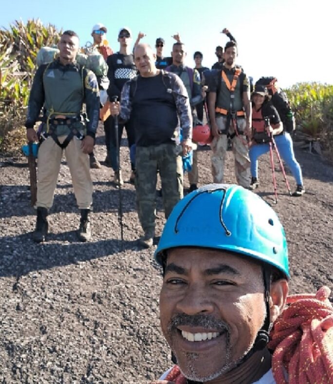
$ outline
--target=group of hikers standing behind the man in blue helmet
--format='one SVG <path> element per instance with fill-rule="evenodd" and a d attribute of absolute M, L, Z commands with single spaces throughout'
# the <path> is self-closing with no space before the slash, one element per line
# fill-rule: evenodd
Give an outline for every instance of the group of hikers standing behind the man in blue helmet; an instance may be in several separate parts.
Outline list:
<path fill-rule="evenodd" d="M 304 193 L 287 124 L 281 122 L 270 101 L 269 91 L 272 97 L 280 98 L 277 83 L 256 84 L 251 105 L 249 79 L 236 64 L 237 43 L 226 28 L 222 32 L 230 41 L 224 52 L 221 46 L 216 48 L 218 61 L 212 70 L 202 66 L 203 55 L 199 51 L 194 54 L 195 68 L 185 65 L 185 44 L 178 33 L 173 36 L 172 57 L 164 57 L 163 38 L 156 39 L 155 53 L 148 44 L 141 43 L 145 34 L 140 32 L 131 50 L 132 32 L 122 27 L 118 33 L 119 51 L 113 53 L 104 38 L 106 32 L 103 24 L 95 24 L 89 47 L 90 54 L 102 59 L 104 73 L 95 76 L 78 63 L 78 36 L 65 31 L 58 44 L 59 57 L 42 63 L 34 78 L 26 127 L 29 141 L 43 141 L 38 153 L 37 227 L 33 233 L 36 242 L 43 242 L 47 235 L 47 213 L 52 206 L 63 150 L 81 211 L 78 239 L 91 238 L 89 167 L 100 167 L 93 153 L 99 118 L 104 123 L 105 162 L 111 165 L 113 181 L 118 186 L 124 183 L 119 170 L 119 143 L 124 128 L 127 132 L 131 154 L 129 181 L 135 184 L 137 211 L 144 231 L 139 242 L 144 247 L 153 245 L 155 235 L 157 173 L 161 177 L 166 218 L 183 198 L 182 158 L 190 157 L 186 169 L 188 192 L 198 188 L 197 136 L 205 134 L 201 144 L 210 143 L 214 183 L 223 182 L 225 154 L 231 142 L 237 183 L 255 189 L 259 185 L 258 157 L 272 150 L 270 138 L 274 135 L 274 144 L 296 179 L 294 195 Z M 87 118 L 81 113 L 83 103 Z M 287 100 L 282 104 L 282 110 L 288 110 Z M 104 113 L 100 113 L 100 107 Z M 33 127 L 41 110 L 43 123 L 38 137 Z M 204 110 L 210 127 L 203 123 Z M 254 131 L 267 140 L 256 141 Z"/>

